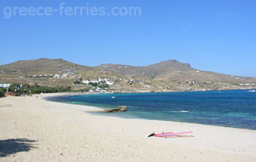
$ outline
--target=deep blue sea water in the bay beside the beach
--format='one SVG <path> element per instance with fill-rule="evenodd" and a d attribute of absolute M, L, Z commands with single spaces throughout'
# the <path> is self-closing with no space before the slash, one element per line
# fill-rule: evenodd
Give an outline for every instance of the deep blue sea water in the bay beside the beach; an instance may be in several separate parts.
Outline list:
<path fill-rule="evenodd" d="M 256 92 L 248 90 L 115 93 L 47 99 L 102 108 L 128 106 L 127 112 L 97 113 L 101 115 L 256 129 Z"/>

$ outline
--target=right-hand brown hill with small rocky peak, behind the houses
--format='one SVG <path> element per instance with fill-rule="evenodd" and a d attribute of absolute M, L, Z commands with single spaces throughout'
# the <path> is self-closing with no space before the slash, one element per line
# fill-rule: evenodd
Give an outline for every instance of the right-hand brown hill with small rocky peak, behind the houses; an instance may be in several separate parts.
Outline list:
<path fill-rule="evenodd" d="M 134 67 L 122 64 L 101 64 L 96 68 L 110 70 L 119 75 L 131 76 L 142 79 L 172 79 L 172 80 L 204 80 L 223 82 L 254 82 L 255 79 L 249 77 L 230 76 L 221 73 L 196 70 L 190 64 L 169 60 L 146 67 Z"/>

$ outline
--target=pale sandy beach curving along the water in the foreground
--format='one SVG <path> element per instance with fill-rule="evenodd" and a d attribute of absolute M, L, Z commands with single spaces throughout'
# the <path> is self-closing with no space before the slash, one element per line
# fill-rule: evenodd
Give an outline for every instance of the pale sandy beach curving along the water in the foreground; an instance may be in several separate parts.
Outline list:
<path fill-rule="evenodd" d="M 0 98 L 0 161 L 256 161 L 255 130 L 105 117 L 45 96 Z"/>

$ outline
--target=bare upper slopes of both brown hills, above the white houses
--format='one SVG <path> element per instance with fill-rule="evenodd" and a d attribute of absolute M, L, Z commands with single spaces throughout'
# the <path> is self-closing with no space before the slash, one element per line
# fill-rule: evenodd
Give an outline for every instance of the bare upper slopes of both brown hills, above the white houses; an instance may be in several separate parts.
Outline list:
<path fill-rule="evenodd" d="M 137 79 L 194 79 L 194 80 L 220 80 L 220 81 L 243 81 L 237 79 L 251 79 L 253 77 L 232 76 L 229 74 L 215 73 L 212 71 L 198 70 L 191 67 L 191 64 L 182 63 L 176 60 L 160 61 L 147 66 L 132 66 L 128 64 L 100 64 L 96 67 L 89 67 L 81 64 L 74 64 L 62 58 L 49 59 L 39 58 L 36 60 L 15 61 L 0 66 L 0 73 L 8 75 L 43 75 L 44 73 L 59 73 L 61 70 L 74 70 L 76 73 L 87 73 L 90 70 L 103 70 L 115 73 L 120 76 L 127 76 Z M 100 73 L 103 73 L 100 71 Z"/>

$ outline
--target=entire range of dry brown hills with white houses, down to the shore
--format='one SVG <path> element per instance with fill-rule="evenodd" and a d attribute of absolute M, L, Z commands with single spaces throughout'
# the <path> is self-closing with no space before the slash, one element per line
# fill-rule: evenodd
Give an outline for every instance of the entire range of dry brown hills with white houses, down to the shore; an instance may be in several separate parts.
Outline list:
<path fill-rule="evenodd" d="M 51 74 L 58 74 L 61 77 L 55 78 Z M 88 86 L 74 82 L 77 79 L 99 78 L 110 79 L 115 83 L 109 87 L 109 92 L 200 91 L 256 87 L 255 78 L 197 70 L 190 64 L 175 60 L 144 67 L 122 64 L 87 67 L 62 59 L 40 58 L 0 66 L 0 83 L 38 83 L 43 86 L 71 86 L 72 89 L 84 89 Z"/>

